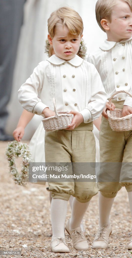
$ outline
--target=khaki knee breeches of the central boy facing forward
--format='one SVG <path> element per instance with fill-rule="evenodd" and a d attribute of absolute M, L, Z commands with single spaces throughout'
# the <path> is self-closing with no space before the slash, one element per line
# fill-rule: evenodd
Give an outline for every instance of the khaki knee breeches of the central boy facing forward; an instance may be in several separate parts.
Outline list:
<path fill-rule="evenodd" d="M 87 124 L 73 131 L 57 130 L 45 132 L 45 162 L 95 162 L 95 138 Z M 92 128 L 90 128 L 92 129 Z M 80 130 L 80 131 L 79 131 Z M 95 169 L 93 168 L 94 173 Z M 72 172 L 74 166 L 72 166 Z M 81 171 L 80 171 L 81 173 Z M 69 200 L 70 195 L 78 201 L 88 202 L 98 193 L 96 182 L 48 182 L 52 197 Z"/>

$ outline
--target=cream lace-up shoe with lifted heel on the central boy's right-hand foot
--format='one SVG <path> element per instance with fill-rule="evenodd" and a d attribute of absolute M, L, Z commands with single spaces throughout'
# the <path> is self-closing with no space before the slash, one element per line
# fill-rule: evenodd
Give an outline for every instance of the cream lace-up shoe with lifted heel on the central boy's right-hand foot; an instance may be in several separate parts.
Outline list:
<path fill-rule="evenodd" d="M 88 242 L 81 231 L 81 228 L 78 227 L 76 229 L 70 229 L 69 221 L 67 222 L 65 226 L 65 230 L 68 232 L 68 234 L 71 236 L 73 247 L 76 250 L 88 250 Z"/>

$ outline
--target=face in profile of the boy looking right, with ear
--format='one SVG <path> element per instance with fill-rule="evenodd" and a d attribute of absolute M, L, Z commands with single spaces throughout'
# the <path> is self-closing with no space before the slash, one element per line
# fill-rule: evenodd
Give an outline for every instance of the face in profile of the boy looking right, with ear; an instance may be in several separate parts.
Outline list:
<path fill-rule="evenodd" d="M 126 2 L 117 0 L 111 14 L 111 22 L 107 22 L 108 41 L 120 42 L 132 36 L 132 11 Z"/>

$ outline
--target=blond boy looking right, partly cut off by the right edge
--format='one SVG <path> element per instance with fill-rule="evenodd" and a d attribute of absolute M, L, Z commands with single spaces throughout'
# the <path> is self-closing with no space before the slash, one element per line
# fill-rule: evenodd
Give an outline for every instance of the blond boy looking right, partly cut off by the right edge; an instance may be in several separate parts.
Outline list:
<path fill-rule="evenodd" d="M 120 90 L 132 92 L 132 0 L 98 0 L 96 19 L 106 32 L 107 40 L 99 51 L 89 55 L 88 61 L 97 68 L 108 99 Z M 128 192 L 132 214 L 132 130 L 112 131 L 106 113 L 107 108 L 114 110 L 116 107 L 123 109 L 123 116 L 132 114 L 132 98 L 126 93 L 118 93 L 112 102 L 111 106 L 107 102 L 102 112 L 100 127 L 100 162 L 110 162 L 112 166 L 101 165 L 98 176 L 99 230 L 93 248 L 108 247 L 112 232 L 110 211 L 122 186 Z M 112 168 L 116 171 L 114 178 Z M 106 175 L 107 182 L 104 182 Z M 132 249 L 132 239 L 127 248 Z"/>

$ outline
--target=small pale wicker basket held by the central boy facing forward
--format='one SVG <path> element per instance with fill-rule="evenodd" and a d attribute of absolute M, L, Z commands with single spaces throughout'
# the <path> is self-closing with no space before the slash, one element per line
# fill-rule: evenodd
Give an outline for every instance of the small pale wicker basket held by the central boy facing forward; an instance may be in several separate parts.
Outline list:
<path fill-rule="evenodd" d="M 68 111 L 56 111 L 56 102 L 53 98 L 55 116 L 42 119 L 45 131 L 56 131 L 67 128 L 72 122 L 72 114 Z"/>

